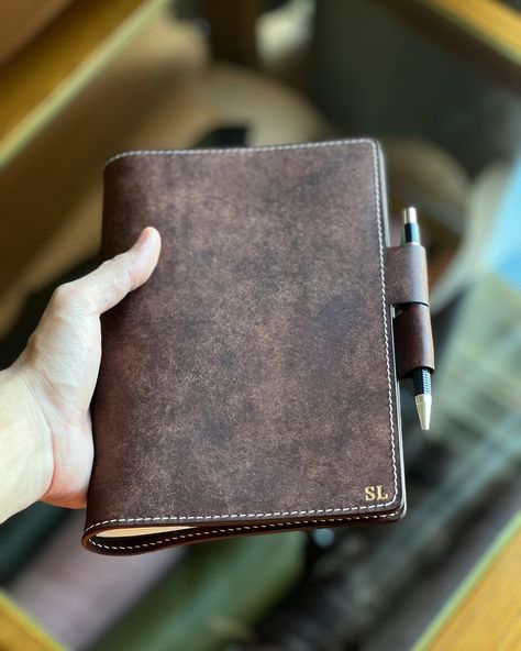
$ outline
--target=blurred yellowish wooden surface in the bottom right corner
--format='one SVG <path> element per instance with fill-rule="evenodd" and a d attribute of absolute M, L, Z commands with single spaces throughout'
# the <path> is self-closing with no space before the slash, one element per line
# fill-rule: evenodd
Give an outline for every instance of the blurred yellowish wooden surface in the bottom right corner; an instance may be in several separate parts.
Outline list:
<path fill-rule="evenodd" d="M 521 514 L 414 651 L 518 651 L 521 649 Z"/>

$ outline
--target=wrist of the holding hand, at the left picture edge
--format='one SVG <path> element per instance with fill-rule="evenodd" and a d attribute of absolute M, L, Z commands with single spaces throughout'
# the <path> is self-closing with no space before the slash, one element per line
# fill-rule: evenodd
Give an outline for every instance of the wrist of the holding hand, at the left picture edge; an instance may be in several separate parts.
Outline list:
<path fill-rule="evenodd" d="M 53 479 L 52 435 L 22 365 L 0 372 L 0 522 L 41 499 Z"/>

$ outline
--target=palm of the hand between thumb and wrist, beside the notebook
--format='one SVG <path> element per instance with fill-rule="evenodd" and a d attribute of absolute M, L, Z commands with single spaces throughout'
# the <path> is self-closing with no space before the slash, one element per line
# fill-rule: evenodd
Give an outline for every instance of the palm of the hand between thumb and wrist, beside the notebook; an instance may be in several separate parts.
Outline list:
<path fill-rule="evenodd" d="M 31 384 L 48 424 L 55 459 L 46 499 L 84 506 L 92 462 L 89 405 L 101 358 L 96 312 L 70 306 L 69 286 L 53 296 L 25 354 Z M 67 497 L 66 497 L 67 496 Z"/>

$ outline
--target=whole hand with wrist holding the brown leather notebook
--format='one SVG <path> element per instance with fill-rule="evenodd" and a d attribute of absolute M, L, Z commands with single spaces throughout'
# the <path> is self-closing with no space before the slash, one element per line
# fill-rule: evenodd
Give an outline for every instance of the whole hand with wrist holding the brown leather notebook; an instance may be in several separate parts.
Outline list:
<path fill-rule="evenodd" d="M 147 228 L 129 251 L 60 285 L 23 353 L 0 373 L 0 521 L 37 499 L 86 505 L 99 317 L 147 280 L 159 250 L 159 233 Z"/>

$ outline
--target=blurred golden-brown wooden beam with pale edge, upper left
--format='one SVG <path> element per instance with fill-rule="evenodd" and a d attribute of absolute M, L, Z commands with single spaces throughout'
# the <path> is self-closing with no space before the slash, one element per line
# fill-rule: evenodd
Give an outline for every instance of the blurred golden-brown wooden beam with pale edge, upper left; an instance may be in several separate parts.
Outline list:
<path fill-rule="evenodd" d="M 76 0 L 0 70 L 0 166 L 66 106 L 165 0 Z"/>

